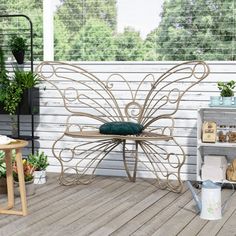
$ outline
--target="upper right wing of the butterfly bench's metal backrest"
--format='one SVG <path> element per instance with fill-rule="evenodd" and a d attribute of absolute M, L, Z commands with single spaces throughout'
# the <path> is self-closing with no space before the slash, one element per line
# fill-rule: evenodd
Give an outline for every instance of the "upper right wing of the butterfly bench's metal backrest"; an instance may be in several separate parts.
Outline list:
<path fill-rule="evenodd" d="M 209 72 L 205 62 L 191 61 L 174 66 L 159 78 L 154 78 L 143 103 L 139 123 L 147 128 L 156 120 L 173 117 L 183 95 L 206 78 Z"/>

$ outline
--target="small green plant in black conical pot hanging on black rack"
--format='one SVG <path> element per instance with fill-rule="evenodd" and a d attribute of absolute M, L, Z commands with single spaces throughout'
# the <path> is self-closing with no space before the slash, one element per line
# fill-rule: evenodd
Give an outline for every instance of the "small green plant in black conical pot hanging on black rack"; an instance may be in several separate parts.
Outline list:
<path fill-rule="evenodd" d="M 24 63 L 25 50 L 27 49 L 26 39 L 13 35 L 10 39 L 10 48 L 18 64 Z"/>

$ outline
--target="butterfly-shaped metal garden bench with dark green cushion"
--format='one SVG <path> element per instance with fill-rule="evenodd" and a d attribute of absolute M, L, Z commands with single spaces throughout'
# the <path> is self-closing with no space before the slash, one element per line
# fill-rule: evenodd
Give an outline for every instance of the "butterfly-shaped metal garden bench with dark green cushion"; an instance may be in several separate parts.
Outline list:
<path fill-rule="evenodd" d="M 185 153 L 173 136 L 174 115 L 183 95 L 208 76 L 205 62 L 185 62 L 159 77 L 147 74 L 136 88 L 120 73 L 100 79 L 63 62 L 42 62 L 37 73 L 58 90 L 68 112 L 65 131 L 52 147 L 62 184 L 90 183 L 108 154 L 122 153 L 130 181 L 144 168 L 160 188 L 181 191 Z"/>

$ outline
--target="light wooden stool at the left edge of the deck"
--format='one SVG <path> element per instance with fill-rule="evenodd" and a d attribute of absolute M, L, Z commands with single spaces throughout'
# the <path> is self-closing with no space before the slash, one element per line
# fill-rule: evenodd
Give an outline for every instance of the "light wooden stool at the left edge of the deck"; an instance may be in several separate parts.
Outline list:
<path fill-rule="evenodd" d="M 27 215 L 27 202 L 25 191 L 25 178 L 23 172 L 22 154 L 21 149 L 28 145 L 27 141 L 17 140 L 17 142 L 0 145 L 0 150 L 5 152 L 6 161 L 6 179 L 7 179 L 7 208 L 0 209 L 0 214 L 14 214 L 14 215 Z M 19 178 L 19 189 L 21 198 L 21 211 L 12 210 L 14 207 L 14 187 L 13 187 L 13 175 L 12 175 L 12 150 L 16 150 L 16 165 Z"/>

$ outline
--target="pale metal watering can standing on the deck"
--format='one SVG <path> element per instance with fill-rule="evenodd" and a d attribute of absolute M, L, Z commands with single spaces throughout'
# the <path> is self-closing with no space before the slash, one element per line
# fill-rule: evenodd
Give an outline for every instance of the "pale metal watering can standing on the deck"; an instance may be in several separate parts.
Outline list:
<path fill-rule="evenodd" d="M 229 198 L 234 194 L 233 192 L 229 198 L 221 206 L 221 187 L 222 185 L 214 183 L 211 180 L 206 180 L 202 183 L 201 199 L 195 193 L 190 181 L 187 181 L 189 190 L 193 195 L 193 199 L 196 202 L 197 208 L 200 212 L 200 218 L 204 220 L 219 220 L 222 218 L 222 212 L 224 212 L 226 203 Z"/>

